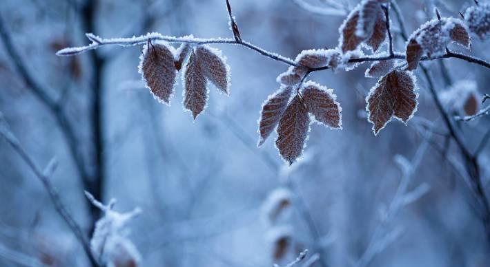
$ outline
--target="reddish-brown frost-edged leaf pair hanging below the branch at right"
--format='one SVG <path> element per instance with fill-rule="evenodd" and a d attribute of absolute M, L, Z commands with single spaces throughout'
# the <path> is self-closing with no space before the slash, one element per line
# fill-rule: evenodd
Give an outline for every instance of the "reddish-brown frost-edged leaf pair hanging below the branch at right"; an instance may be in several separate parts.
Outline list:
<path fill-rule="evenodd" d="M 398 118 L 406 124 L 417 109 L 418 94 L 415 93 L 415 76 L 411 72 L 394 70 L 371 88 L 366 97 L 369 122 L 374 134 L 391 120 Z"/>

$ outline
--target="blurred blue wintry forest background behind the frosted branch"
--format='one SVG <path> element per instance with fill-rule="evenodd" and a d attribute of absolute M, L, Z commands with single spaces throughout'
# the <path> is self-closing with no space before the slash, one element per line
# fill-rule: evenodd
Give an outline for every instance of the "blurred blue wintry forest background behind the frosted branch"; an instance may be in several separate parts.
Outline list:
<path fill-rule="evenodd" d="M 473 5 L 398 3 L 409 33 L 434 17 L 434 6 L 444 17 L 459 17 Z M 337 29 L 356 4 L 231 0 L 242 39 L 291 58 L 336 47 Z M 40 169 L 56 158 L 50 181 L 87 236 L 101 214 L 84 190 L 105 203 L 117 199 L 115 211 L 142 209 L 127 225 L 141 266 L 284 266 L 306 248 L 308 257 L 320 256 L 317 267 L 489 266 L 478 204 L 420 70 L 415 117 L 408 126 L 393 120 L 378 136 L 364 111 L 376 83 L 364 78 L 368 63 L 312 74 L 337 94 L 344 129 L 313 125 L 304 158 L 287 167 L 275 136 L 256 147 L 259 109 L 279 88 L 282 63 L 239 45 L 215 45 L 231 66 L 231 94 L 211 89 L 208 108 L 193 122 L 182 111 L 180 78 L 170 107 L 144 88 L 141 47 L 55 55 L 86 45 L 85 32 L 232 37 L 224 0 L 3 0 L 0 18 L 3 120 Z M 394 20 L 393 32 L 403 52 Z M 490 58 L 488 42 L 477 38 L 471 52 L 451 49 Z M 476 92 L 477 110 L 490 93 L 484 67 L 458 59 L 426 66 L 451 114 L 471 114 L 455 98 Z M 473 151 L 490 118 L 456 126 Z M 489 148 L 478 158 L 484 185 Z M 88 266 L 46 189 L 3 139 L 0 266 Z"/>

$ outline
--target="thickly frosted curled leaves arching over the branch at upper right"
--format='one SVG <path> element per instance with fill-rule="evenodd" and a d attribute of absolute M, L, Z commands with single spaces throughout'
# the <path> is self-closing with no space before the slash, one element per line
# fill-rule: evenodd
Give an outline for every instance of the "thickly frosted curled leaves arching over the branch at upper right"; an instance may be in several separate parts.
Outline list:
<path fill-rule="evenodd" d="M 415 70 L 424 54 L 429 58 L 444 55 L 447 45 L 451 42 L 470 48 L 471 40 L 463 21 L 453 18 L 427 21 L 413 32 L 406 43 L 408 69 Z"/>

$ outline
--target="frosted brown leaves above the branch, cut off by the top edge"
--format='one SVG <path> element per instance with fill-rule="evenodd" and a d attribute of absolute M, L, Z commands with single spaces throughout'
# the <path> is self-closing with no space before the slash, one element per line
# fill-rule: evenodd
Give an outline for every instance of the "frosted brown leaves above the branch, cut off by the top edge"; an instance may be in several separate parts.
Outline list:
<path fill-rule="evenodd" d="M 364 0 L 357 5 L 339 28 L 342 52 L 356 50 L 365 43 L 373 52 L 378 51 L 386 39 L 386 17 L 383 0 Z"/>

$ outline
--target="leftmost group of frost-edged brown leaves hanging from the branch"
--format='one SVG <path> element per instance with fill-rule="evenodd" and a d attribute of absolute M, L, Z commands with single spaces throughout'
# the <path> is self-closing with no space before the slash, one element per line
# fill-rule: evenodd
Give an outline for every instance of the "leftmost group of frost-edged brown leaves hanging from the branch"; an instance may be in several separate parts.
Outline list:
<path fill-rule="evenodd" d="M 184 43 L 175 50 L 166 43 L 148 43 L 141 56 L 139 70 L 153 96 L 170 105 L 177 72 L 182 67 L 184 108 L 192 112 L 195 119 L 206 107 L 208 81 L 219 92 L 228 94 L 230 68 L 221 52 L 207 45 L 191 47 Z"/>

